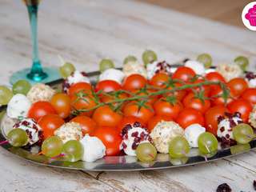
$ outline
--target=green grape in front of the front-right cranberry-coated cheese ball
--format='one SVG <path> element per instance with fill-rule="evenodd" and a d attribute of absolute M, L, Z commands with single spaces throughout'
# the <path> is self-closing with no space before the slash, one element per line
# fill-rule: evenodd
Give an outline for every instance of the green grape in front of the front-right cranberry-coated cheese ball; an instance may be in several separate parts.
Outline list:
<path fill-rule="evenodd" d="M 254 138 L 254 130 L 246 123 L 240 123 L 233 127 L 233 136 L 240 144 L 246 144 Z"/>

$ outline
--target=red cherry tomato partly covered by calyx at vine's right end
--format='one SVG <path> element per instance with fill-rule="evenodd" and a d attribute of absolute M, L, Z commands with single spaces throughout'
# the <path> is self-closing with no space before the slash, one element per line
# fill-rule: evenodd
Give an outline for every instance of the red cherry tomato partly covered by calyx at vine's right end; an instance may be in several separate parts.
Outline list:
<path fill-rule="evenodd" d="M 216 86 L 216 87 L 214 87 L 214 89 L 212 89 L 210 91 L 210 98 L 212 98 L 211 104 L 213 106 L 226 105 L 233 101 L 233 98 L 228 97 L 226 100 L 226 103 L 225 103 L 225 100 L 222 97 L 222 93 L 223 93 L 223 90 L 220 86 Z M 230 93 L 230 96 L 233 96 L 232 93 Z"/>

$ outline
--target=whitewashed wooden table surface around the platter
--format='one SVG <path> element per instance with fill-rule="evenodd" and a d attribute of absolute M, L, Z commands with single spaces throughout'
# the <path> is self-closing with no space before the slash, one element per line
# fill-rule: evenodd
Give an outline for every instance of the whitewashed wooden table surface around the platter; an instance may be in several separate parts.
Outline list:
<path fill-rule="evenodd" d="M 62 2 L 62 3 L 60 3 Z M 60 3 L 60 4 L 58 4 Z M 209 52 L 214 62 L 242 54 L 256 64 L 255 32 L 128 0 L 42 1 L 39 47 L 46 66 L 58 54 L 78 69 L 97 70 L 101 58 L 117 66 L 127 54 L 153 49 L 175 62 Z M 0 1 L 0 80 L 30 65 L 30 30 L 21 1 Z M 0 149 L 0 191 L 215 191 L 227 182 L 234 191 L 254 191 L 256 152 L 170 170 L 92 173 L 36 166 Z"/>

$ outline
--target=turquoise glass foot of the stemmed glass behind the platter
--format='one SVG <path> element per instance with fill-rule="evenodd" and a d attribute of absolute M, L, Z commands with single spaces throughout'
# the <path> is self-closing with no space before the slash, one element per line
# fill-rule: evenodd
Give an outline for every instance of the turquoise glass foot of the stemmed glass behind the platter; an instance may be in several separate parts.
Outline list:
<path fill-rule="evenodd" d="M 28 78 L 30 76 L 30 68 L 24 69 L 24 70 L 18 70 L 10 77 L 10 84 L 14 84 L 18 80 L 25 79 L 26 81 L 30 82 L 32 85 L 38 82 L 46 83 L 46 82 L 53 82 L 54 80 L 57 80 L 61 78 L 58 68 L 54 67 L 43 67 L 42 70 L 44 71 L 45 78 L 42 79 L 41 77 L 33 77 L 34 80 L 31 80 Z M 42 79 L 42 80 L 41 80 Z"/>

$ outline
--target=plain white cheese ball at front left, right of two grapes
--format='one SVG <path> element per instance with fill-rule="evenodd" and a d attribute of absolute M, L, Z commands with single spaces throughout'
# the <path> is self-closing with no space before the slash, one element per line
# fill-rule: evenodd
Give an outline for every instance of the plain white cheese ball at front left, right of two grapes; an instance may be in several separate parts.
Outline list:
<path fill-rule="evenodd" d="M 99 138 L 90 137 L 89 134 L 86 134 L 80 142 L 84 149 L 82 161 L 95 162 L 106 155 L 106 146 L 104 146 L 103 142 Z"/>

